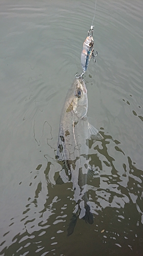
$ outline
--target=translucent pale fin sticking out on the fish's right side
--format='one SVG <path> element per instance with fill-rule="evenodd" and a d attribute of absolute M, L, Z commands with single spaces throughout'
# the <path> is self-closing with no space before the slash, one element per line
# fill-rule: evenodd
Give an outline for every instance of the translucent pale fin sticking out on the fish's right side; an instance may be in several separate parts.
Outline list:
<path fill-rule="evenodd" d="M 87 130 L 89 140 L 102 140 L 103 136 L 98 132 L 98 130 L 91 124 L 91 122 L 85 120 L 85 129 Z"/>

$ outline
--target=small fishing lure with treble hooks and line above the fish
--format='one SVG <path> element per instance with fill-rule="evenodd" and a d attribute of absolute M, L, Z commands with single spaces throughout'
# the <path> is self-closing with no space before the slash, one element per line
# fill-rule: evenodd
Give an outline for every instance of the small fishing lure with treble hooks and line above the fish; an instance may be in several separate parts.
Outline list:
<path fill-rule="evenodd" d="M 97 2 L 97 0 L 96 0 Z M 96 10 L 96 3 L 95 3 L 95 10 Z M 94 13 L 94 17 L 93 17 L 93 20 L 95 18 L 95 13 Z M 82 52 L 81 52 L 81 66 L 82 66 L 82 69 L 83 69 L 83 72 L 80 76 L 78 76 L 78 73 L 76 73 L 76 78 L 81 78 L 82 75 L 87 71 L 87 68 L 89 66 L 89 62 L 90 62 L 90 59 L 94 59 L 94 61 L 96 62 L 96 59 L 95 57 L 97 56 L 98 52 L 96 51 L 96 55 L 94 55 L 94 38 L 93 38 L 93 21 L 92 21 L 92 25 L 91 25 L 91 28 L 90 30 L 88 31 L 88 36 L 87 38 L 85 39 L 85 41 L 83 42 L 83 49 L 82 49 Z"/>

